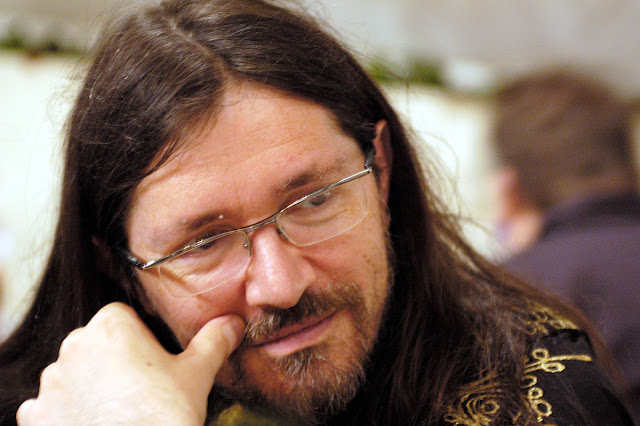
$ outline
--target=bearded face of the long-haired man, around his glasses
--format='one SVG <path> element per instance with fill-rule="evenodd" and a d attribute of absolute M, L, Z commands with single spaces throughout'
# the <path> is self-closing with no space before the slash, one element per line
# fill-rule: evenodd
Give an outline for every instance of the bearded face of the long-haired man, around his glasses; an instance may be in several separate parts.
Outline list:
<path fill-rule="evenodd" d="M 149 308 L 186 346 L 209 320 L 236 314 L 245 341 L 216 383 L 240 400 L 311 413 L 353 397 L 389 292 L 388 142 L 378 124 L 362 177 L 367 216 L 324 242 L 297 247 L 268 225 L 250 234 L 251 261 L 234 280 L 176 297 L 162 267 L 141 271 Z M 229 88 L 212 125 L 138 186 L 127 220 L 131 251 L 160 258 L 198 238 L 257 222 L 364 168 L 364 155 L 327 109 L 258 84 Z M 345 400 L 345 401 L 341 401 Z"/>

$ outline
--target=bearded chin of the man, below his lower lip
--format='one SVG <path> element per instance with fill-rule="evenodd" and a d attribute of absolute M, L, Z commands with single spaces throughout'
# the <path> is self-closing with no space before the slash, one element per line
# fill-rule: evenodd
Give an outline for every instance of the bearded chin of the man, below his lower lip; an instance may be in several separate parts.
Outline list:
<path fill-rule="evenodd" d="M 240 348 L 220 370 L 216 382 L 237 401 L 315 423 L 341 411 L 362 384 L 373 342 L 357 334 L 279 358 Z"/>

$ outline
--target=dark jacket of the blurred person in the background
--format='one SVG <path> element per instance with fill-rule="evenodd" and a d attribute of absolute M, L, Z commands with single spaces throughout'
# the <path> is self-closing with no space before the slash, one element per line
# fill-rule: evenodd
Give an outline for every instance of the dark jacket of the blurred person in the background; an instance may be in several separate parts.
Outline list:
<path fill-rule="evenodd" d="M 532 247 L 506 262 L 577 306 L 596 325 L 629 381 L 640 423 L 640 197 L 560 206 Z"/>

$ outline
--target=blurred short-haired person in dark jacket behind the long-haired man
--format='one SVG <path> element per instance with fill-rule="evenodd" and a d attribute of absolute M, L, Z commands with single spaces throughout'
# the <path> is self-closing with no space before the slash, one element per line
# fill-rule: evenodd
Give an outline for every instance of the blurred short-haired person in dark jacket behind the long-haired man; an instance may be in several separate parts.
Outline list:
<path fill-rule="evenodd" d="M 582 309 L 629 382 L 640 422 L 640 197 L 631 111 L 579 74 L 547 71 L 497 96 L 506 265 Z"/>

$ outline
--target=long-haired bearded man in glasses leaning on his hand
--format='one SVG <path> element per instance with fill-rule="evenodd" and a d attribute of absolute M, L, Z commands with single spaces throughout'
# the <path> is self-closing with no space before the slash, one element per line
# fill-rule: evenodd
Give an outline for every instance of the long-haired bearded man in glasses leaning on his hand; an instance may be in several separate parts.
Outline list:
<path fill-rule="evenodd" d="M 5 422 L 625 424 L 580 320 L 460 239 L 381 91 L 302 14 L 126 17 L 66 149 L 51 259 L 0 348 Z"/>

